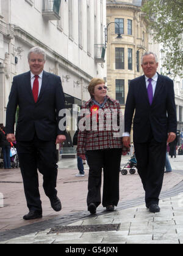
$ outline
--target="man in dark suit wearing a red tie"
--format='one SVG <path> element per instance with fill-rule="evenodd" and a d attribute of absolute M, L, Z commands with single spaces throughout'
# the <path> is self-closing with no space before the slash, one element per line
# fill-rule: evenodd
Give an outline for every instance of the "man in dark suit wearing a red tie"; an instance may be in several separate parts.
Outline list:
<path fill-rule="evenodd" d="M 45 72 L 45 51 L 30 49 L 30 71 L 13 78 L 6 115 L 7 140 L 16 140 L 29 213 L 24 219 L 42 217 L 37 168 L 43 175 L 43 188 L 55 211 L 62 206 L 57 197 L 56 144 L 65 140 L 65 130 L 59 129 L 59 111 L 65 108 L 60 77 Z M 19 107 L 14 135 L 16 108 Z"/>

